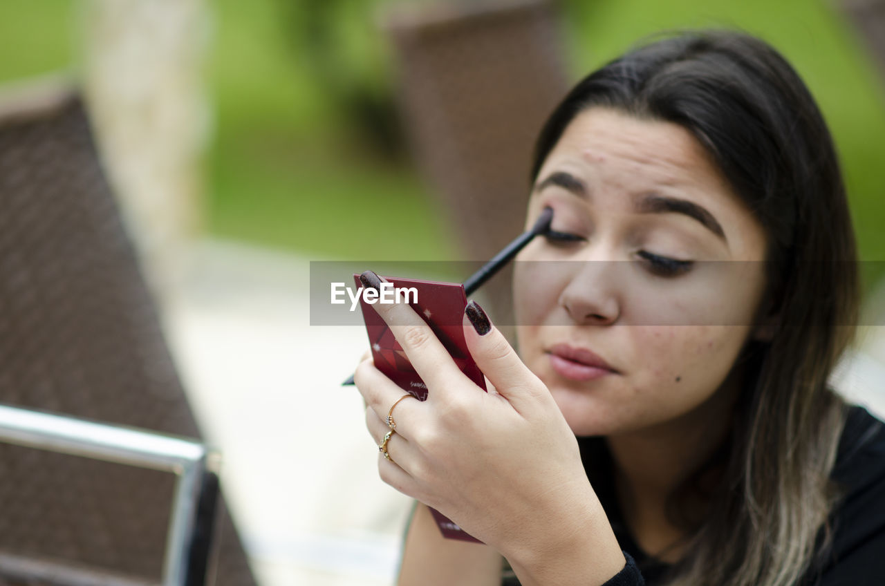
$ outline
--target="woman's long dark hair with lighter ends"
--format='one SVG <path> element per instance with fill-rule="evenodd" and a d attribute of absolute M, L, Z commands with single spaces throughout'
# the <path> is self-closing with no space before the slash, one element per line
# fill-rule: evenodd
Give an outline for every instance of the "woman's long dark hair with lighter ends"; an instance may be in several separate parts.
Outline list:
<path fill-rule="evenodd" d="M 691 541 L 669 583 L 795 584 L 826 551 L 837 499 L 829 475 L 845 414 L 827 378 L 858 312 L 857 253 L 827 125 L 798 74 L 765 42 L 682 33 L 582 80 L 542 129 L 533 181 L 569 123 L 592 106 L 686 128 L 768 241 L 761 312 L 773 316 L 773 334 L 744 349 L 747 384 L 731 437 L 683 486 L 711 465 L 724 471 L 708 514 L 683 526 Z"/>

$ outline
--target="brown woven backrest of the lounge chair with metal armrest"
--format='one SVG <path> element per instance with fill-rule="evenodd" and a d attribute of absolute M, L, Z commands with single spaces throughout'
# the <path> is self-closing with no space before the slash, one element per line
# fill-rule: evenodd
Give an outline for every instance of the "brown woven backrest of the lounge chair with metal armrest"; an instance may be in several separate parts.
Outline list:
<path fill-rule="evenodd" d="M 0 99 L 0 402 L 199 437 L 81 99 L 65 84 Z M 28 564 L 89 568 L 72 574 L 77 584 L 159 582 L 173 481 L 0 444 L 0 583 L 65 583 L 19 582 Z M 254 584 L 223 504 L 218 514 L 206 583 Z"/>

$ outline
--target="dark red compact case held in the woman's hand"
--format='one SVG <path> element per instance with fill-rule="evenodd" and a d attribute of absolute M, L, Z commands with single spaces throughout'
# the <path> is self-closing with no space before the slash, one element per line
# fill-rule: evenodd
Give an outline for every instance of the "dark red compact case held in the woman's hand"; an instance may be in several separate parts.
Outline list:
<path fill-rule="evenodd" d="M 353 275 L 357 287 L 363 286 L 359 281 L 359 275 Z M 400 298 L 408 296 L 409 305 L 427 322 L 433 330 L 455 364 L 476 383 L 478 387 L 486 390 L 486 380 L 479 366 L 473 362 L 467 343 L 464 338 L 464 308 L 467 305 L 467 297 L 464 286 L 460 283 L 441 281 L 421 281 L 419 279 L 401 279 L 398 277 L 384 277 L 393 284 L 393 289 L 406 289 L 408 293 Z M 394 294 L 396 298 L 396 294 Z M 387 324 L 374 310 L 374 305 L 366 301 L 366 297 L 360 295 L 360 306 L 363 310 L 363 320 L 366 321 L 366 331 L 369 335 L 369 344 L 372 346 L 372 357 L 375 366 L 388 378 L 396 382 L 404 391 L 412 394 L 420 401 L 427 399 L 427 385 L 421 380 L 412 363 L 405 355 L 402 346 L 396 342 Z M 450 539 L 462 539 L 480 543 L 479 540 L 468 535 L 462 528 L 443 516 L 442 513 L 431 509 L 437 527 L 443 536 Z"/>

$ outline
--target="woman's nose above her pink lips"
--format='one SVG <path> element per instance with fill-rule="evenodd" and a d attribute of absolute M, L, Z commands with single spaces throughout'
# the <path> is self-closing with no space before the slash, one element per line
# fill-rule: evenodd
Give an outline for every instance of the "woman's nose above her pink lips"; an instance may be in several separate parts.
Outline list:
<path fill-rule="evenodd" d="M 577 325 L 608 326 L 620 319 L 616 260 L 569 261 L 573 277 L 559 296 Z"/>

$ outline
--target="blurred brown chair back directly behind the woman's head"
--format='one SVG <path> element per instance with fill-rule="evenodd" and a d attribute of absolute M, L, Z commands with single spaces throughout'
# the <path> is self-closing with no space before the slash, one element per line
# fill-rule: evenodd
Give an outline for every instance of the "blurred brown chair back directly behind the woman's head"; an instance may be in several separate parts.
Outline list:
<path fill-rule="evenodd" d="M 385 27 L 419 165 L 466 258 L 487 260 L 523 229 L 535 137 L 566 93 L 553 4 L 403 5 Z M 499 323 L 509 319 L 510 274 L 483 288 Z"/>

